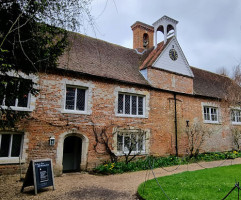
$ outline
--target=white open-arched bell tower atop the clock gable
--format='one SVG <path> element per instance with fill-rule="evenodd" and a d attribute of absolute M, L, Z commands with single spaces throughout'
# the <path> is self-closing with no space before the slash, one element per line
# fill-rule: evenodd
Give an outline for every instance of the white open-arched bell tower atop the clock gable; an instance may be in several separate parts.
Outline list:
<path fill-rule="evenodd" d="M 157 31 L 161 31 L 164 34 L 164 44 L 166 44 L 168 36 L 174 34 L 174 36 L 177 37 L 177 24 L 178 21 L 170 17 L 167 17 L 166 15 L 164 15 L 162 18 L 160 18 L 152 24 L 154 27 L 155 48 L 157 47 Z"/>

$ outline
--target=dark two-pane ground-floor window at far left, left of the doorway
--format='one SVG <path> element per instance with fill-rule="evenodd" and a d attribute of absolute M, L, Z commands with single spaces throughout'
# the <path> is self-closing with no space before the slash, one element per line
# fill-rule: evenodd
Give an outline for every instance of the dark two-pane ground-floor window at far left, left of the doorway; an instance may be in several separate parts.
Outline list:
<path fill-rule="evenodd" d="M 22 134 L 0 134 L 0 158 L 15 158 L 21 155 Z"/>

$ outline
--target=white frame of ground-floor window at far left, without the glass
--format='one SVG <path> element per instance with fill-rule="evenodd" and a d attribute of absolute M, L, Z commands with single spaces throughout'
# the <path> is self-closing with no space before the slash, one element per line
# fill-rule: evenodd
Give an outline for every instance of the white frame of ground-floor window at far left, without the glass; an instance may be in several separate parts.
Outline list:
<path fill-rule="evenodd" d="M 9 150 L 8 150 L 8 156 L 7 157 L 0 157 L 0 164 L 1 161 L 7 161 L 9 163 L 11 162 L 19 162 L 19 157 L 22 157 L 23 154 L 23 141 L 24 141 L 24 135 L 21 133 L 0 133 L 0 149 L 1 149 L 1 142 L 2 142 L 2 135 L 11 135 L 10 137 L 10 145 L 9 145 Z M 20 154 L 17 157 L 11 157 L 12 153 L 12 141 L 13 141 L 13 135 L 21 135 L 21 144 L 20 144 Z"/>

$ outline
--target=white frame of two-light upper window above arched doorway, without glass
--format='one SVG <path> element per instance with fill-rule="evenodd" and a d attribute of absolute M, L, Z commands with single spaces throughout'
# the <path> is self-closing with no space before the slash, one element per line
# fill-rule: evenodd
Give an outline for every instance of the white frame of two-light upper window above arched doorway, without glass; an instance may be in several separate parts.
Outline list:
<path fill-rule="evenodd" d="M 66 109 L 66 93 L 67 88 L 75 88 L 75 104 L 74 104 L 74 110 Z M 76 98 L 77 98 L 77 89 L 84 89 L 85 90 L 85 107 L 84 110 L 76 110 Z M 62 113 L 73 113 L 73 114 L 87 114 L 87 108 L 88 108 L 88 88 L 83 86 L 76 86 L 76 85 L 65 85 L 65 93 L 64 93 L 64 108 Z"/>

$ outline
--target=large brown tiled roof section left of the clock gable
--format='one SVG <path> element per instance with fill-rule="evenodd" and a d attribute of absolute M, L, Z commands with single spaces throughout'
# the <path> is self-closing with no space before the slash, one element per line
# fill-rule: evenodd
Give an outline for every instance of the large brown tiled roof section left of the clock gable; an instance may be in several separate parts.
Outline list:
<path fill-rule="evenodd" d="M 77 33 L 70 33 L 69 48 L 59 59 L 59 68 L 123 82 L 149 85 L 139 72 L 142 55 Z"/>

